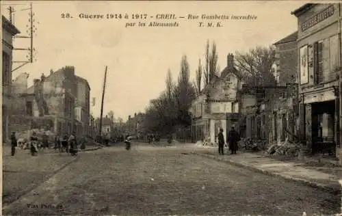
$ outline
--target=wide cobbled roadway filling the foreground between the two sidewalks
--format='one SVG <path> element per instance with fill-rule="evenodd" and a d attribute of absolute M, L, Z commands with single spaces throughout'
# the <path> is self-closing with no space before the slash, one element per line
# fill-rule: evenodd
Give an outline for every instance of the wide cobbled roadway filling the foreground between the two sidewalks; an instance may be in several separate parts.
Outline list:
<path fill-rule="evenodd" d="M 302 215 L 303 211 L 331 215 L 339 211 L 339 195 L 190 152 L 189 148 L 133 146 L 130 151 L 110 147 L 81 153 L 75 163 L 7 206 L 3 215 Z"/>

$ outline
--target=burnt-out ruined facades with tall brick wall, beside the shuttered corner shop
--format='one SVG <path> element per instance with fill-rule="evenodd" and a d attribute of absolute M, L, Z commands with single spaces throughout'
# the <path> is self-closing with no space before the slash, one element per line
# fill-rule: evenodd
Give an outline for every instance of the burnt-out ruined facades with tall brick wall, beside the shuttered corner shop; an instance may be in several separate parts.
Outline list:
<path fill-rule="evenodd" d="M 280 144 L 298 139 L 297 32 L 276 46 L 276 85 L 247 86 L 239 90 L 241 137 Z"/>

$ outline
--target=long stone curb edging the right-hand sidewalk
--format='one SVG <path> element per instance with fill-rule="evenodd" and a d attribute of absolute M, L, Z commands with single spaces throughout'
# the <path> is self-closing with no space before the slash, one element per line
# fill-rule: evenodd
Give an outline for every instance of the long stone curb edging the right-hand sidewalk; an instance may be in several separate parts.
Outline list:
<path fill-rule="evenodd" d="M 276 177 L 284 178 L 286 180 L 291 180 L 291 181 L 301 183 L 303 185 L 307 185 L 307 186 L 310 186 L 310 187 L 313 187 L 316 189 L 323 189 L 324 191 L 328 191 L 328 192 L 332 192 L 332 193 L 340 193 L 341 192 L 341 185 L 338 185 L 338 184 L 336 185 L 336 187 L 334 185 L 323 185 L 323 184 L 315 183 L 313 181 L 305 180 L 302 178 L 296 178 L 296 177 L 292 177 L 292 176 L 284 176 L 282 174 L 278 174 L 275 172 L 270 172 L 268 170 L 263 170 L 261 168 L 253 167 L 253 166 L 248 165 L 248 164 L 237 163 L 231 159 L 224 159 L 224 158 L 220 159 L 220 158 L 217 158 L 217 157 L 210 155 L 210 154 L 201 154 L 201 153 L 197 153 L 197 152 L 191 152 L 191 154 L 195 154 L 195 155 L 198 155 L 200 157 L 207 157 L 209 159 L 214 159 L 215 161 L 231 163 L 237 167 L 242 167 L 242 168 L 246 168 L 248 170 L 267 174 L 268 176 L 276 176 Z"/>

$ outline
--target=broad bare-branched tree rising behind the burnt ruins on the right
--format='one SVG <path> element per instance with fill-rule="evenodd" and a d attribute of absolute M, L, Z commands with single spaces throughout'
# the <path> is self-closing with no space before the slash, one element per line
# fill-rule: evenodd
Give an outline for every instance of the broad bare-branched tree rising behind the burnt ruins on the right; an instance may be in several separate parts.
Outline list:
<path fill-rule="evenodd" d="M 265 86 L 276 85 L 274 65 L 276 50 L 274 46 L 257 46 L 246 53 L 236 53 L 235 66 L 244 77 L 248 85 Z"/>

